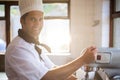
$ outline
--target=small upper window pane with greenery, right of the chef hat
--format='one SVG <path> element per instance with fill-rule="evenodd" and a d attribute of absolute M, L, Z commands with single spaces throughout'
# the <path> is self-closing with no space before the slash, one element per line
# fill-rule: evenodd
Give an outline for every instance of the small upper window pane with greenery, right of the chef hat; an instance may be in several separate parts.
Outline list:
<path fill-rule="evenodd" d="M 68 18 L 68 4 L 67 3 L 44 3 L 45 17 L 66 17 Z"/>

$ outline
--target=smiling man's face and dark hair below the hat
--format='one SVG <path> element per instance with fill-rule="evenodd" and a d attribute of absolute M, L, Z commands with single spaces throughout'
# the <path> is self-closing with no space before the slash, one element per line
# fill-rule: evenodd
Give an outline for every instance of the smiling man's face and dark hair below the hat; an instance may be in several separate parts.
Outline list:
<path fill-rule="evenodd" d="M 40 11 L 31 11 L 25 19 L 21 19 L 23 30 L 35 39 L 43 27 L 43 13 Z"/>

